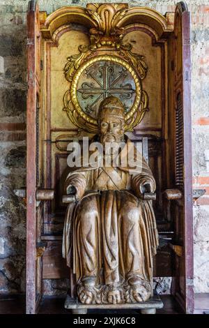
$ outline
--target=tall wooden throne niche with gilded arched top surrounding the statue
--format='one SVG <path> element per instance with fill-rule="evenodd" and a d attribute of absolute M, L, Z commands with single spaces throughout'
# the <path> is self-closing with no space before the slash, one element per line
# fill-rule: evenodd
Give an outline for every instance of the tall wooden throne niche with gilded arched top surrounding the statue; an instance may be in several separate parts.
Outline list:
<path fill-rule="evenodd" d="M 84 63 L 91 61 L 98 65 L 95 69 L 100 69 L 100 62 L 95 61 L 98 56 L 116 69 L 122 65 L 121 72 L 128 71 L 127 80 L 132 68 L 141 76 L 139 87 L 143 97 L 137 107 L 137 124 L 130 125 L 127 134 L 134 142 L 143 140 L 148 144 L 147 159 L 157 181 L 153 206 L 160 246 L 154 260 L 154 276 L 172 277 L 171 295 L 184 312 L 192 313 L 189 28 L 190 15 L 183 2 L 177 4 L 175 13 L 164 16 L 150 8 L 129 8 L 124 3 L 88 4 L 86 8 L 67 6 L 47 15 L 39 12 L 35 1 L 29 2 L 27 313 L 38 311 L 43 279 L 70 278 L 61 255 L 67 144 L 95 135 L 91 123 L 93 102 L 100 101 L 89 93 L 92 75 L 86 77 L 80 70 L 82 78 L 75 92 L 90 117 L 85 125 L 82 120 L 85 113 L 70 107 L 71 85 L 73 73 Z M 105 39 L 105 35 L 109 38 Z M 114 63 L 113 56 L 117 58 Z M 134 103 L 137 91 L 128 94 L 127 80 L 122 77 L 119 87 L 126 93 L 128 108 Z M 107 86 L 103 89 L 104 94 L 114 92 L 108 91 Z"/>

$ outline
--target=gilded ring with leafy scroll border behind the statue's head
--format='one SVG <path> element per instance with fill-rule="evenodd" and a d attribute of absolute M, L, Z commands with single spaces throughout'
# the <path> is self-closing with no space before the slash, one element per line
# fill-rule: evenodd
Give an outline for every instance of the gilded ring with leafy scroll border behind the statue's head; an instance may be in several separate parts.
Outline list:
<path fill-rule="evenodd" d="M 66 64 L 65 66 L 65 76 L 70 82 L 70 88 L 66 91 L 64 96 L 65 110 L 68 114 L 70 121 L 72 121 L 79 130 L 87 131 L 89 133 L 98 132 L 98 119 L 92 117 L 88 112 L 84 110 L 84 107 L 79 103 L 77 92 L 79 91 L 78 85 L 82 78 L 82 75 L 93 66 L 99 62 L 118 64 L 121 68 L 125 69 L 130 75 L 130 78 L 134 84 L 134 100 L 129 110 L 125 112 L 125 131 L 133 131 L 134 126 L 137 126 L 144 117 L 146 111 L 148 111 L 148 96 L 146 91 L 142 89 L 141 80 L 146 76 L 143 66 L 141 64 L 139 70 L 139 60 L 142 59 L 139 57 L 138 61 L 135 59 L 132 52 L 127 52 L 123 50 L 123 56 L 125 59 L 118 57 L 116 55 L 110 54 L 98 54 L 94 57 L 88 57 L 88 52 L 80 52 L 79 55 L 70 57 L 70 66 Z M 86 55 L 86 60 L 85 56 Z M 82 58 L 81 61 L 79 59 Z M 131 59 L 131 60 L 128 60 Z M 69 60 L 69 59 L 68 59 Z M 79 61 L 79 64 L 75 63 Z M 140 73 L 141 72 L 141 73 Z M 86 83 L 84 83 L 86 84 Z M 91 89 L 88 89 L 88 94 L 90 94 Z M 121 91 L 123 87 L 121 87 Z"/>

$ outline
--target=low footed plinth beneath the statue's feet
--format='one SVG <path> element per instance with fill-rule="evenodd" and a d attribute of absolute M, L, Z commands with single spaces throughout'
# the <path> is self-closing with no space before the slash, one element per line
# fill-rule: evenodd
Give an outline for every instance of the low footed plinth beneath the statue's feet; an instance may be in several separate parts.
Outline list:
<path fill-rule="evenodd" d="M 82 304 L 76 299 L 72 299 L 69 295 L 65 299 L 65 308 L 71 310 L 73 314 L 86 314 L 88 309 L 139 309 L 141 314 L 155 314 L 156 308 L 162 308 L 163 303 L 158 295 L 154 295 L 148 301 L 141 301 L 140 303 L 125 303 L 125 304 Z"/>

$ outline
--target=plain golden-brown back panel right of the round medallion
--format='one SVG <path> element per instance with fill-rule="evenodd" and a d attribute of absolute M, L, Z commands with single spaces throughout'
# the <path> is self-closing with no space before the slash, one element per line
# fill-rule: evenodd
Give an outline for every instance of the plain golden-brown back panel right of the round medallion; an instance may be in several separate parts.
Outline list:
<path fill-rule="evenodd" d="M 157 130 L 162 128 L 162 61 L 163 49 L 162 43 L 154 43 L 155 36 L 149 29 L 137 26 L 127 28 L 127 33 L 123 38 L 124 44 L 132 45 L 132 52 L 144 56 L 144 60 L 148 66 L 146 78 L 143 80 L 143 89 L 148 94 L 148 108 L 144 119 L 135 130 L 144 131 L 156 135 Z M 159 131 L 158 130 L 158 131 Z"/>

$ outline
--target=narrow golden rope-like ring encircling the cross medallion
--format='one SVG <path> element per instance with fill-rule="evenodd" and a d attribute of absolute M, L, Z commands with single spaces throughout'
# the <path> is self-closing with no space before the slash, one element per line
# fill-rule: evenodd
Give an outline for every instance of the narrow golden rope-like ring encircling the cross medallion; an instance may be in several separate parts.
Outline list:
<path fill-rule="evenodd" d="M 82 110 L 82 107 L 79 105 L 79 101 L 77 99 L 77 84 L 79 82 L 79 77 L 82 75 L 82 73 L 84 72 L 84 70 L 86 70 L 88 66 L 91 66 L 97 61 L 112 61 L 116 64 L 121 64 L 132 75 L 136 87 L 136 95 L 131 109 L 125 114 L 125 121 L 128 121 L 134 115 L 134 113 L 137 112 L 139 108 L 139 104 L 141 102 L 142 87 L 141 87 L 141 80 L 139 79 L 137 72 L 132 68 L 132 66 L 130 66 L 130 64 L 127 61 L 121 59 L 120 57 L 106 55 L 106 54 L 99 55 L 97 57 L 93 57 L 92 59 L 89 59 L 88 61 L 84 62 L 82 66 L 78 68 L 74 77 L 72 78 L 72 83 L 70 88 L 70 99 L 72 101 L 73 107 L 85 121 L 95 126 L 98 125 L 98 120 L 93 119 L 90 115 L 86 114 L 84 110 Z"/>

